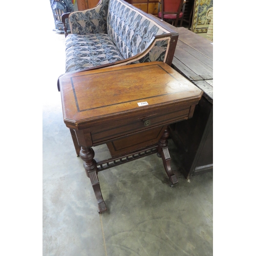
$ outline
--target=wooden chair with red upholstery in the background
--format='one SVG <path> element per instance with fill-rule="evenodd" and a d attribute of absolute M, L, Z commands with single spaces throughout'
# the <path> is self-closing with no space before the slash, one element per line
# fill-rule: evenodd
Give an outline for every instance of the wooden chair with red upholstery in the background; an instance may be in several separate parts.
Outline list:
<path fill-rule="evenodd" d="M 180 27 L 182 27 L 185 4 L 186 0 L 159 0 L 158 17 L 166 22 L 170 20 L 175 27 L 180 19 Z"/>

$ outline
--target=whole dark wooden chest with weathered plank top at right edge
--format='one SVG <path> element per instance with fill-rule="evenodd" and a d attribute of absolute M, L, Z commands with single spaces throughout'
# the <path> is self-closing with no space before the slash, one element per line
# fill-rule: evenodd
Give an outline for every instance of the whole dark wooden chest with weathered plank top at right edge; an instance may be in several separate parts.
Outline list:
<path fill-rule="evenodd" d="M 193 118 L 170 126 L 177 160 L 189 178 L 213 170 L 213 45 L 185 28 L 170 27 L 179 33 L 172 67 L 204 92 Z"/>

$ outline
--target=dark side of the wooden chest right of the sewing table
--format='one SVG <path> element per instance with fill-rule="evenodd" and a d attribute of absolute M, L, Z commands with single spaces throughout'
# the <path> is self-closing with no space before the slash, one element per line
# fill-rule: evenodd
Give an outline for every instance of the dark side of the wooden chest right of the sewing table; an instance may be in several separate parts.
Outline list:
<path fill-rule="evenodd" d="M 212 170 L 212 103 L 202 97 L 191 119 L 175 123 L 170 137 L 178 148 L 176 159 L 185 178 Z"/>

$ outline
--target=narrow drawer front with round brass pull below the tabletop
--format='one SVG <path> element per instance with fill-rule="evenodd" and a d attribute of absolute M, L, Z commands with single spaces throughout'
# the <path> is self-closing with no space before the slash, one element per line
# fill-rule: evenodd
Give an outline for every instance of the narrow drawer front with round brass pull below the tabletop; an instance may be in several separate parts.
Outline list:
<path fill-rule="evenodd" d="M 186 120 L 188 119 L 189 111 L 190 106 L 184 106 L 183 108 L 176 109 L 173 112 L 169 112 L 168 110 L 165 110 L 165 112 L 158 110 L 155 112 L 151 111 L 148 113 L 140 113 L 138 116 L 132 118 L 126 117 L 123 119 L 113 119 L 111 122 L 113 125 L 111 124 L 107 127 L 102 125 L 103 127 L 100 129 L 97 126 L 97 130 L 94 130 L 92 127 L 92 141 L 93 144 L 100 144 L 108 140 L 120 138 L 122 136 L 127 136 L 138 131 L 152 128 L 154 126 Z"/>

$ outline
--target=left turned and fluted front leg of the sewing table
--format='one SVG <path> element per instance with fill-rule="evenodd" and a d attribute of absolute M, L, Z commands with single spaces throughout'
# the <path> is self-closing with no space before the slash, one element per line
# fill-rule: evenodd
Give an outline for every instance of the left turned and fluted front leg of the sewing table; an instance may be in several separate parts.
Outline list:
<path fill-rule="evenodd" d="M 80 157 L 84 161 L 83 167 L 86 169 L 86 174 L 90 178 L 95 197 L 98 202 L 98 212 L 101 214 L 106 211 L 106 204 L 102 198 L 99 180 L 98 180 L 98 170 L 97 164 L 94 158 L 94 151 L 91 147 L 81 147 Z"/>

